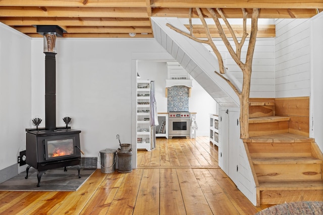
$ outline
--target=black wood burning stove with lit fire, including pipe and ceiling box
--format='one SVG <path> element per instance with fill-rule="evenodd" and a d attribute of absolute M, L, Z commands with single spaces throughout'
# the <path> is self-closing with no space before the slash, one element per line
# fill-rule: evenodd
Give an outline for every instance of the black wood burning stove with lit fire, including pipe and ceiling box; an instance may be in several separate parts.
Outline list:
<path fill-rule="evenodd" d="M 37 32 L 44 36 L 45 53 L 45 128 L 26 129 L 26 169 L 37 170 L 37 187 L 46 170 L 76 166 L 80 178 L 80 130 L 70 127 L 56 127 L 56 36 L 63 35 L 59 26 L 37 26 Z M 41 121 L 41 120 L 40 120 Z"/>

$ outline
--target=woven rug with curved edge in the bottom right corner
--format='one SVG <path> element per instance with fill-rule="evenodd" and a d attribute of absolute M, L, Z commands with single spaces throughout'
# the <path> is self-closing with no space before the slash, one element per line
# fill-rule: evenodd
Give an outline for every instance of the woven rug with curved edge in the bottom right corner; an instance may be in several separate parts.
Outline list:
<path fill-rule="evenodd" d="M 298 201 L 277 204 L 257 212 L 255 215 L 321 215 L 323 201 Z"/>

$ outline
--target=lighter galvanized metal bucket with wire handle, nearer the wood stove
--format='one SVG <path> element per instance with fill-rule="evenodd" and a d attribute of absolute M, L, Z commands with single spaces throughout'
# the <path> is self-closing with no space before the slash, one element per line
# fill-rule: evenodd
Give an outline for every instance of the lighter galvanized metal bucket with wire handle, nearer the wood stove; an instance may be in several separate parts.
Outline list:
<path fill-rule="evenodd" d="M 100 151 L 101 173 L 113 173 L 117 160 L 117 150 L 105 149 Z"/>

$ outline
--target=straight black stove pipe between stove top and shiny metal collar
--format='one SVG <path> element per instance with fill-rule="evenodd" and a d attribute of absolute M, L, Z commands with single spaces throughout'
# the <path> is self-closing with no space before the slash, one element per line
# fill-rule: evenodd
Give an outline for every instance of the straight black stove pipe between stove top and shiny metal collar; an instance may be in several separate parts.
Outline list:
<path fill-rule="evenodd" d="M 45 129 L 56 130 L 56 53 L 45 52 Z"/>

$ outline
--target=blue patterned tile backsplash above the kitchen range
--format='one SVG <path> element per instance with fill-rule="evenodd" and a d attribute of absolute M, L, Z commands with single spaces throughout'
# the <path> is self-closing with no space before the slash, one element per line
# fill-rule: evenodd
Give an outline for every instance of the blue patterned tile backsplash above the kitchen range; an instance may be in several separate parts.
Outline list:
<path fill-rule="evenodd" d="M 168 112 L 188 112 L 188 87 L 173 86 L 167 93 Z"/>

